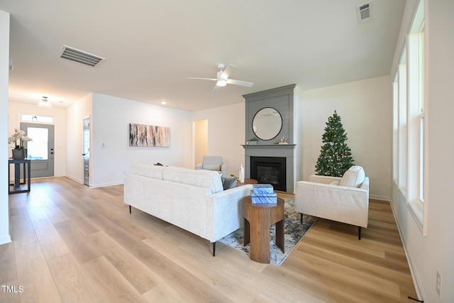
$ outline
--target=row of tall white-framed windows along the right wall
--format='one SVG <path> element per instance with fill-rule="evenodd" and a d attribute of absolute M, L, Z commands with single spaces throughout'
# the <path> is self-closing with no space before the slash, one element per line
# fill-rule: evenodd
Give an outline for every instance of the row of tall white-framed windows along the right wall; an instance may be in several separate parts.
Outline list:
<path fill-rule="evenodd" d="M 426 234 L 423 7 L 421 0 L 394 77 L 393 177 L 416 224 Z"/>

